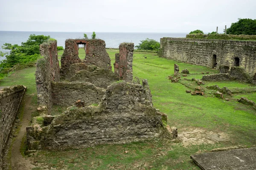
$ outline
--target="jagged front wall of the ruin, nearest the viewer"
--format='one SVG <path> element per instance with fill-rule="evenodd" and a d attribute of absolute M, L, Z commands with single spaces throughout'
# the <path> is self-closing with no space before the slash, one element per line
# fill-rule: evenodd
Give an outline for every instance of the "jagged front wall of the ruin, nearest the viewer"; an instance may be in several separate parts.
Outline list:
<path fill-rule="evenodd" d="M 72 106 L 41 130 L 37 124 L 27 127 L 29 149 L 65 150 L 169 138 L 166 115 L 152 106 L 151 99 L 145 80 L 143 85 L 113 83 L 99 106 Z"/>

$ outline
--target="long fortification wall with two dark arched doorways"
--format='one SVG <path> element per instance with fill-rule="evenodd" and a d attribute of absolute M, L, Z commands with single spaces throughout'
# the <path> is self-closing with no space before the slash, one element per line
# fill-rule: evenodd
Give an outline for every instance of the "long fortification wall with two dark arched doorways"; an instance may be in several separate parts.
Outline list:
<path fill-rule="evenodd" d="M 160 57 L 218 69 L 220 65 L 241 66 L 256 72 L 256 42 L 161 38 Z"/>

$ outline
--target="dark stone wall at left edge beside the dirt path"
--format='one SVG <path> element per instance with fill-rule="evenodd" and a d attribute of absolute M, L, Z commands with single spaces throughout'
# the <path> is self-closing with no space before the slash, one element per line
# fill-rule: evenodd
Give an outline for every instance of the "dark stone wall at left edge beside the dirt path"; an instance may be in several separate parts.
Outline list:
<path fill-rule="evenodd" d="M 0 170 L 2 169 L 3 151 L 25 90 L 26 87 L 23 85 L 0 90 Z"/>

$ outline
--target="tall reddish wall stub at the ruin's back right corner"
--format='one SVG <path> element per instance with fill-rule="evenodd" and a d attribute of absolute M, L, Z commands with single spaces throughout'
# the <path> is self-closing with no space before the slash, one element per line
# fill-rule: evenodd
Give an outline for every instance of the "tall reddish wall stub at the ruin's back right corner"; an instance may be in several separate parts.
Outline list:
<path fill-rule="evenodd" d="M 115 74 L 127 82 L 133 79 L 132 61 L 133 61 L 134 43 L 122 43 L 119 45 L 119 54 L 116 54 L 114 63 Z"/>

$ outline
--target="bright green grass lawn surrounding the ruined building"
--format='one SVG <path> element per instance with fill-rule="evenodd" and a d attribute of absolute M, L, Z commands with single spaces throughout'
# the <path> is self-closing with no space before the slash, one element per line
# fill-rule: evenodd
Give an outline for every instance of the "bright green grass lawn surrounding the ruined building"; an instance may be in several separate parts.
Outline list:
<path fill-rule="evenodd" d="M 116 49 L 107 49 L 113 66 Z M 58 51 L 61 58 L 63 51 Z M 85 52 L 79 49 L 79 57 L 84 59 Z M 146 58 L 145 58 L 146 57 Z M 168 125 L 178 128 L 178 135 L 188 134 L 192 130 L 203 130 L 204 133 L 195 133 L 191 139 L 198 142 L 184 145 L 181 140 L 174 142 L 159 140 L 135 142 L 131 144 L 100 145 L 81 150 L 67 150 L 63 152 L 38 151 L 30 159 L 37 161 L 35 170 L 48 167 L 49 169 L 170 169 L 192 170 L 197 167 L 190 159 L 191 154 L 206 152 L 216 147 L 256 145 L 256 111 L 247 105 L 237 102 L 241 96 L 256 102 L 256 86 L 230 81 L 205 82 L 207 85 L 226 86 L 236 93 L 226 96 L 229 101 L 218 99 L 214 91 L 205 91 L 204 96 L 192 96 L 186 90 L 193 90 L 198 85 L 195 82 L 182 78 L 179 83 L 171 83 L 167 79 L 174 74 L 174 64 L 178 64 L 180 71 L 188 69 L 187 79 L 201 79 L 201 72 L 218 73 L 218 71 L 198 65 L 157 57 L 155 53 L 134 51 L 133 74 L 140 79 L 148 79 L 154 107 L 168 116 Z M 0 81 L 0 86 L 22 84 L 27 86 L 27 94 L 36 94 L 35 67 L 15 72 Z M 181 84 L 182 83 L 182 84 Z M 185 86 L 186 85 L 186 86 Z M 36 101 L 35 101 L 36 102 Z M 62 109 L 57 108 L 56 109 Z M 208 140 L 200 142 L 202 136 L 220 134 L 228 136 L 228 140 Z M 189 138 L 189 137 L 187 137 Z M 208 141 L 208 142 L 207 142 Z M 213 141 L 213 142 L 211 142 Z M 126 152 L 127 151 L 127 152 Z"/>

